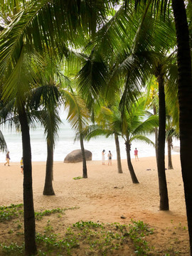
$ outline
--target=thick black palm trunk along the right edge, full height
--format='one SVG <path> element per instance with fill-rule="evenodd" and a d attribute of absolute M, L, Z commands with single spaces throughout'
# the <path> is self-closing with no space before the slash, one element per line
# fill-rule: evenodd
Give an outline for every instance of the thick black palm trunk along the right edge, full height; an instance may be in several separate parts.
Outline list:
<path fill-rule="evenodd" d="M 189 46 L 188 23 L 183 0 L 172 0 L 176 24 L 176 40 L 178 47 L 178 102 L 181 171 L 183 176 L 188 219 L 188 234 L 192 256 L 192 81 L 191 53 Z"/>

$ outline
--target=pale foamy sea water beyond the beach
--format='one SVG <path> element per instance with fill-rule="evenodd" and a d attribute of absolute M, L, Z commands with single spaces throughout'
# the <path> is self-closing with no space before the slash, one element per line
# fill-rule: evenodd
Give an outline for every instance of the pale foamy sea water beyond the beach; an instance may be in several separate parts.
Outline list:
<path fill-rule="evenodd" d="M 54 149 L 54 161 L 63 161 L 65 156 L 75 149 L 80 149 L 80 142 L 75 139 L 75 130 L 70 127 L 70 124 L 63 119 L 62 124 L 58 130 L 58 137 L 55 140 Z M 8 127 L 0 126 L 1 132 L 4 134 L 6 144 L 9 149 L 9 155 L 11 161 L 19 162 L 23 155 L 22 143 L 21 143 L 21 132 L 16 132 L 15 129 L 9 129 Z M 32 161 L 46 161 L 47 159 L 47 145 L 46 137 L 44 135 L 43 127 L 37 126 L 36 129 L 30 129 L 31 136 L 31 155 Z M 154 142 L 154 135 L 147 136 L 151 141 Z M 178 146 L 179 142 L 174 141 L 174 146 Z M 89 142 L 84 142 L 85 149 L 92 152 L 92 160 L 102 159 L 102 150 L 105 149 L 106 154 L 110 150 L 112 152 L 112 159 L 117 159 L 116 146 L 114 137 L 97 137 L 90 139 Z M 124 139 L 119 137 L 119 146 L 121 159 L 127 159 Z M 133 141 L 131 147 L 131 157 L 134 158 L 134 149 L 137 147 L 139 157 L 155 156 L 154 146 L 150 146 L 144 142 Z M 167 146 L 165 149 L 167 154 Z M 172 154 L 178 154 L 172 151 Z M 0 152 L 0 162 L 5 161 L 6 153 Z"/>

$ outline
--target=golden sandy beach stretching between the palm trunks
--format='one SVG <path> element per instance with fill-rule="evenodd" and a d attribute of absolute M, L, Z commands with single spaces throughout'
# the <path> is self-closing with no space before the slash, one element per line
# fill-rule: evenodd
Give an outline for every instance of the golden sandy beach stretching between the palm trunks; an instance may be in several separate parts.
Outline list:
<path fill-rule="evenodd" d="M 102 165 L 102 161 L 87 161 L 88 178 L 74 180 L 82 176 L 82 163 L 64 164 L 54 162 L 53 188 L 55 196 L 43 196 L 45 162 L 33 162 L 33 201 L 35 210 L 53 208 L 74 208 L 65 213 L 65 226 L 80 220 L 102 223 L 124 223 L 131 219 L 149 223 L 156 232 L 154 243 L 159 246 L 173 236 L 174 228 L 187 227 L 186 206 L 179 155 L 172 156 L 174 170 L 166 170 L 169 193 L 169 211 L 159 211 L 159 184 L 155 157 L 132 159 L 139 184 L 133 184 L 127 168 L 127 160 L 122 160 L 123 174 L 117 173 L 117 161 L 112 166 Z M 11 166 L 1 164 L 0 206 L 23 203 L 23 175 L 19 163 Z M 167 168 L 167 158 L 166 158 Z M 125 218 L 122 219 L 121 216 Z M 54 220 L 53 220 L 54 221 Z M 57 225 L 55 220 L 55 225 Z M 37 230 L 38 228 L 38 223 Z M 182 247 L 188 248 L 188 233 L 181 230 L 178 239 Z M 188 250 L 188 249 L 187 249 Z M 181 254 L 187 255 L 187 254 Z"/>

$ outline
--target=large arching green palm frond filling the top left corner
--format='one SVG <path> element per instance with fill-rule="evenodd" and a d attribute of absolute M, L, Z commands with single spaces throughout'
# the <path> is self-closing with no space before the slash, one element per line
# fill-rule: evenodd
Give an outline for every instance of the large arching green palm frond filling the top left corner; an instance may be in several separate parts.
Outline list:
<path fill-rule="evenodd" d="M 65 44 L 85 45 L 85 34 L 95 34 L 107 9 L 107 1 L 26 1 L 25 8 L 0 35 L 1 73 L 13 63 L 16 65 L 23 43 L 30 51 L 49 46 L 58 53 L 65 52 Z"/>

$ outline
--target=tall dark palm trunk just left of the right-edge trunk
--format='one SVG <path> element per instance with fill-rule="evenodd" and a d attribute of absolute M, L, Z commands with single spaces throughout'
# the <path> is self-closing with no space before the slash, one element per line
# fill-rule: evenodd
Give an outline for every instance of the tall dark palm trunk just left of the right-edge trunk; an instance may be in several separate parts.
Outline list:
<path fill-rule="evenodd" d="M 165 137 L 166 137 L 166 106 L 164 93 L 164 78 L 161 75 L 161 66 L 159 66 L 159 139 L 158 139 L 158 159 L 157 169 L 159 177 L 159 210 L 169 210 L 169 198 L 166 186 L 165 173 Z"/>

